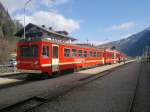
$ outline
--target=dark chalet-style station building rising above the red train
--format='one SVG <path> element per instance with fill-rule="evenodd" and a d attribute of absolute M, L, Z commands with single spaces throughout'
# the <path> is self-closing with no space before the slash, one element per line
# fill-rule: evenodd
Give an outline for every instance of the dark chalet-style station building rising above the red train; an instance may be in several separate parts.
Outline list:
<path fill-rule="evenodd" d="M 20 31 L 18 31 L 15 36 L 19 38 L 24 37 L 24 28 L 22 28 Z M 51 27 L 46 28 L 44 25 L 38 26 L 32 23 L 29 23 L 25 26 L 25 37 L 26 39 L 36 39 L 36 38 L 47 38 L 50 40 L 56 40 L 60 42 L 66 42 L 66 41 L 75 41 L 77 39 L 69 37 L 68 32 L 66 31 L 54 31 Z"/>

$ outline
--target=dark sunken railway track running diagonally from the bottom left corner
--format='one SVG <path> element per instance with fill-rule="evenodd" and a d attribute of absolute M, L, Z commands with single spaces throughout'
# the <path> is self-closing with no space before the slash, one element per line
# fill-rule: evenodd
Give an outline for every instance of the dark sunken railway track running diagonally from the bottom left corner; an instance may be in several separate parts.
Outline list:
<path fill-rule="evenodd" d="M 84 84 L 90 83 L 94 80 L 97 80 L 99 78 L 103 78 L 107 75 L 109 75 L 110 73 L 112 73 L 113 71 L 115 71 L 117 68 L 120 68 L 122 66 L 104 71 L 102 73 L 99 74 L 95 74 L 95 75 L 91 75 L 89 77 L 86 78 L 81 78 L 78 80 L 77 84 L 74 84 L 72 87 L 70 87 L 69 89 L 65 89 L 63 92 L 56 94 L 55 96 L 47 96 L 47 97 L 42 97 L 42 96 L 35 96 L 29 99 L 26 99 L 22 102 L 16 103 L 14 105 L 11 105 L 9 107 L 0 109 L 0 112 L 19 112 L 19 110 L 21 110 L 22 112 L 30 112 L 32 110 L 34 110 L 35 108 L 39 107 L 40 105 L 43 105 L 45 103 L 48 103 L 54 99 L 56 99 L 59 96 L 63 96 L 64 94 L 72 91 L 73 89 L 76 89 L 78 87 L 81 87 Z"/>

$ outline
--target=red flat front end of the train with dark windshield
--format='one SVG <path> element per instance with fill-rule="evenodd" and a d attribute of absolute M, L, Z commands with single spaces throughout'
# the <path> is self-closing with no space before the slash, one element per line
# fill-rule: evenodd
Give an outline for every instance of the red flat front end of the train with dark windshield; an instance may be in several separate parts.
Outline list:
<path fill-rule="evenodd" d="M 24 73 L 42 73 L 40 66 L 40 42 L 18 42 L 17 69 Z"/>

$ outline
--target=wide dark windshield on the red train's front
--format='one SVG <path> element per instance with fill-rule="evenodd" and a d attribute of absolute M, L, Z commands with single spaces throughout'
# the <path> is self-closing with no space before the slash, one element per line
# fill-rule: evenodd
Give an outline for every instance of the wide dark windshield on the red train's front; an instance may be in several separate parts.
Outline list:
<path fill-rule="evenodd" d="M 38 45 L 22 45 L 20 47 L 20 56 L 22 58 L 38 57 Z"/>

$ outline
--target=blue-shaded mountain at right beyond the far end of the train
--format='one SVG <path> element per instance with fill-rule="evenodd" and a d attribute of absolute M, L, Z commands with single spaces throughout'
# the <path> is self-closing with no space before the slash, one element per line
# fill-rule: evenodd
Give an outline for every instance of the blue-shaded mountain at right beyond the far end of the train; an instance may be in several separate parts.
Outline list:
<path fill-rule="evenodd" d="M 147 28 L 132 36 L 118 41 L 109 42 L 99 47 L 116 46 L 117 49 L 126 53 L 128 56 L 141 56 L 143 48 L 150 46 L 150 28 Z"/>

